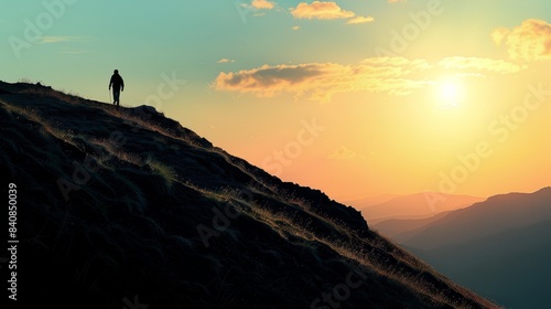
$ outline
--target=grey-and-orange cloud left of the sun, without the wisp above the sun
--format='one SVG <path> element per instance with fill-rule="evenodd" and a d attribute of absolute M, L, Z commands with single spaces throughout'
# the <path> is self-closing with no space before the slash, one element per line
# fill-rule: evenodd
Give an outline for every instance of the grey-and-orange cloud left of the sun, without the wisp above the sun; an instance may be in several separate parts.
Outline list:
<path fill-rule="evenodd" d="M 250 93 L 258 97 L 273 97 L 289 93 L 295 98 L 307 97 L 318 102 L 329 102 L 335 94 L 356 90 L 401 96 L 431 84 L 429 81 L 408 77 L 424 67 L 421 63 L 422 61 L 383 57 L 356 65 L 337 63 L 263 65 L 236 73 L 222 72 L 213 87 L 217 90 Z"/>

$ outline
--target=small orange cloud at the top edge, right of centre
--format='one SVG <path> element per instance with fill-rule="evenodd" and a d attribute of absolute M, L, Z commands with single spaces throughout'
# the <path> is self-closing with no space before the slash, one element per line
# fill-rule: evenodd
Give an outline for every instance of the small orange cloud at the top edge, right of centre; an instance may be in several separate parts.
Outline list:
<path fill-rule="evenodd" d="M 341 9 L 335 2 L 321 2 L 314 1 L 311 4 L 306 2 L 301 2 L 291 14 L 296 19 L 321 19 L 321 20 L 333 20 L 333 19 L 349 19 L 354 18 L 356 14 L 350 11 Z"/>

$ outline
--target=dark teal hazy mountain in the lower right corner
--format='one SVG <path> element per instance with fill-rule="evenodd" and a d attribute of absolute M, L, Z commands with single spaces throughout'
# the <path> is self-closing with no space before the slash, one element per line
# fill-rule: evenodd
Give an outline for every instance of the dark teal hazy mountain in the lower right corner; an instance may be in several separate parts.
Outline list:
<path fill-rule="evenodd" d="M 551 188 L 497 195 L 395 238 L 506 308 L 551 303 Z"/>

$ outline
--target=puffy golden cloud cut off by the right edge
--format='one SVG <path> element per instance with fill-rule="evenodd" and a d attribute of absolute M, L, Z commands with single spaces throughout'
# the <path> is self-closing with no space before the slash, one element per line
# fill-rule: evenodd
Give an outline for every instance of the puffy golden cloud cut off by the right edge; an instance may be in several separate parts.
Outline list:
<path fill-rule="evenodd" d="M 504 45 L 511 60 L 551 60 L 551 24 L 542 20 L 525 20 L 512 30 L 498 28 L 491 36 Z"/>

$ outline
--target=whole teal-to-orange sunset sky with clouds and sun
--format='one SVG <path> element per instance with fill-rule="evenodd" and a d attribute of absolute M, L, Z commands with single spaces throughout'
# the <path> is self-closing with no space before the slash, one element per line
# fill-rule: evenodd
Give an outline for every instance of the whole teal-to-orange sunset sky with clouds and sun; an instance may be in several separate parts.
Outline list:
<path fill-rule="evenodd" d="M 0 0 L 0 79 L 151 105 L 337 200 L 551 185 L 545 0 Z"/>

